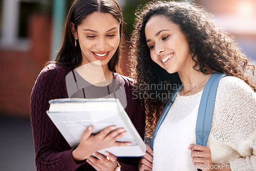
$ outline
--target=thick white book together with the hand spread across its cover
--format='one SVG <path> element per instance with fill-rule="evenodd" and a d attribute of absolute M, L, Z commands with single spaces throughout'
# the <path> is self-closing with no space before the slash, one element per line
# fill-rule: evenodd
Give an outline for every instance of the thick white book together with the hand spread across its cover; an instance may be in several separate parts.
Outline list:
<path fill-rule="evenodd" d="M 75 161 L 98 152 L 143 156 L 146 146 L 118 99 L 54 99 L 47 111 L 72 148 Z"/>

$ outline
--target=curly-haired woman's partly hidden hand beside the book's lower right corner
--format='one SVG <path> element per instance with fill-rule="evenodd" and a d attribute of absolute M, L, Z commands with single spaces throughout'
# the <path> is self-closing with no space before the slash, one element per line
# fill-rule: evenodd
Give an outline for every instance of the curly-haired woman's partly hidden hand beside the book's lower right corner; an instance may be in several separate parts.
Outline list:
<path fill-rule="evenodd" d="M 139 164 L 139 170 L 152 170 L 153 168 L 153 151 L 149 145 L 146 144 L 146 154 L 142 157 Z"/>

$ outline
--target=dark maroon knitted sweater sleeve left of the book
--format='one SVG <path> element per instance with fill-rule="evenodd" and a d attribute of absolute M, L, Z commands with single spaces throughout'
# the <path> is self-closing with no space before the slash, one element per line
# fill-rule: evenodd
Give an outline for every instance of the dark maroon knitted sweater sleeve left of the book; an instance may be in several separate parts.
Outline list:
<path fill-rule="evenodd" d="M 31 93 L 30 117 L 37 170 L 75 170 L 82 164 L 75 163 L 71 147 L 46 114 L 49 100 L 65 96 L 63 79 L 65 76 L 58 73 L 54 65 L 47 66 L 37 77 Z"/>

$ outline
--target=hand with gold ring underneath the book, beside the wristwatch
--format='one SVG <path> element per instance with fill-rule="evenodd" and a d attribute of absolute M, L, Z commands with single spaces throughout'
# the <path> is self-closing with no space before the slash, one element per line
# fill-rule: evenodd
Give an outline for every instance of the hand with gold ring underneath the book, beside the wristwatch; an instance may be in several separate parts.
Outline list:
<path fill-rule="evenodd" d="M 117 167 L 117 157 L 111 153 L 106 152 L 106 156 L 96 152 L 93 154 L 95 157 L 90 156 L 87 162 L 91 164 L 98 171 L 113 171 Z M 108 157 L 108 158 L 107 158 Z"/>

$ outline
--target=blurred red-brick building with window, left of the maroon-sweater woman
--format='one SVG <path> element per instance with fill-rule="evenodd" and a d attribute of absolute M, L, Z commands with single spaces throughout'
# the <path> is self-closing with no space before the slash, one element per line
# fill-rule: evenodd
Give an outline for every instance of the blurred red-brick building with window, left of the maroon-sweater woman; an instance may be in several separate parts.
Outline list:
<path fill-rule="evenodd" d="M 33 84 L 50 57 L 51 15 L 44 2 L 0 1 L 1 114 L 29 116 Z"/>

